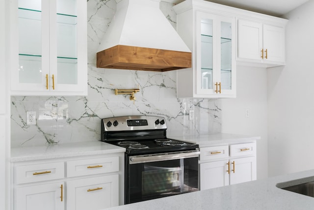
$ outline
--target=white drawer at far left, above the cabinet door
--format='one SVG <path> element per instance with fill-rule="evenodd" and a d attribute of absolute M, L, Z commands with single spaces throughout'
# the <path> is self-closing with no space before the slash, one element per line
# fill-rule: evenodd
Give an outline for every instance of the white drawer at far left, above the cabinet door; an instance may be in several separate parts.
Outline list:
<path fill-rule="evenodd" d="M 15 177 L 17 184 L 62 179 L 64 178 L 64 162 L 17 166 Z"/>

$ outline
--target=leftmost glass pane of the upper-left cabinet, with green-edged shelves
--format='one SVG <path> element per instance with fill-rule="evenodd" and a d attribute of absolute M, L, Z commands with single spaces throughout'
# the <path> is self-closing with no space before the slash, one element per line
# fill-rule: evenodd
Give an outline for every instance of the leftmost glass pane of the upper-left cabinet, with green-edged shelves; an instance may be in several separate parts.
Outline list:
<path fill-rule="evenodd" d="M 43 19 L 41 0 L 18 1 L 19 83 L 42 85 L 49 73 L 49 67 L 42 65 Z"/>

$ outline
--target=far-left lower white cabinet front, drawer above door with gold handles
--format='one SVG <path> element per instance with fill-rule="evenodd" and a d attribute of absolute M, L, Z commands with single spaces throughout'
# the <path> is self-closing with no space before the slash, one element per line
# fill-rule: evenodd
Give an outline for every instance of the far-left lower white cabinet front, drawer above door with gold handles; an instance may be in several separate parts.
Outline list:
<path fill-rule="evenodd" d="M 64 182 L 55 182 L 63 178 L 61 161 L 16 165 L 15 210 L 64 210 Z"/>

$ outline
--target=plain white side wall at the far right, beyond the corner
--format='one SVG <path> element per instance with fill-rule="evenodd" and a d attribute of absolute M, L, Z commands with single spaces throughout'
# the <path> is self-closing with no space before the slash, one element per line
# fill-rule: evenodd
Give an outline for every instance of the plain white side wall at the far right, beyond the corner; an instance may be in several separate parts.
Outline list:
<path fill-rule="evenodd" d="M 314 168 L 314 0 L 291 11 L 286 66 L 267 70 L 269 175 Z"/>

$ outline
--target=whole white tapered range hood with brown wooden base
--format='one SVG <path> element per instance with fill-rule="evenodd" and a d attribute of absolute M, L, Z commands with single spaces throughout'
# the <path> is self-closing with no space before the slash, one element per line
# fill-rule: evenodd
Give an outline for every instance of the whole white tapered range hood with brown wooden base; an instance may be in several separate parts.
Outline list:
<path fill-rule="evenodd" d="M 97 68 L 191 68 L 192 53 L 160 11 L 160 0 L 116 1 L 117 11 L 98 49 Z"/>

